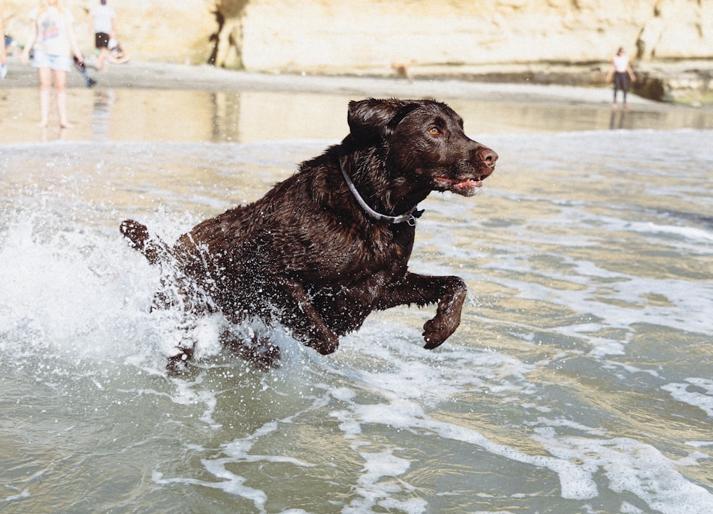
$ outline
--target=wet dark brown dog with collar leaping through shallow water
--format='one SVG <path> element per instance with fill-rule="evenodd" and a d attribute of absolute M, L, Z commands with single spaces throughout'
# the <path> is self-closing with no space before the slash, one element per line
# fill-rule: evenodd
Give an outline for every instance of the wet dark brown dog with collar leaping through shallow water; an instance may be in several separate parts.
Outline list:
<path fill-rule="evenodd" d="M 435 303 L 425 348 L 446 341 L 461 322 L 466 284 L 409 272 L 416 206 L 431 191 L 475 195 L 498 154 L 468 138 L 461 117 L 436 101 L 352 101 L 348 122 L 341 144 L 173 247 L 125 220 L 130 245 L 168 270 L 170 287 L 154 307 L 180 303 L 190 317 L 221 312 L 232 324 L 257 317 L 330 354 L 374 310 Z M 179 349 L 169 368 L 192 355 L 190 345 Z"/>

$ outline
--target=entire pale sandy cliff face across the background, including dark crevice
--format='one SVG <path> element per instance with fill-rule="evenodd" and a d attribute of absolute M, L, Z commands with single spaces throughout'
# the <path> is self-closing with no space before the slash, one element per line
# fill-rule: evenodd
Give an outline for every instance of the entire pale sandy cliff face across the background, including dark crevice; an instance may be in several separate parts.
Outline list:
<path fill-rule="evenodd" d="M 65 0 L 86 51 L 86 9 Z M 340 73 L 419 66 L 713 58 L 709 0 L 108 0 L 135 58 L 250 71 Z M 33 0 L 5 0 L 26 38 Z"/>

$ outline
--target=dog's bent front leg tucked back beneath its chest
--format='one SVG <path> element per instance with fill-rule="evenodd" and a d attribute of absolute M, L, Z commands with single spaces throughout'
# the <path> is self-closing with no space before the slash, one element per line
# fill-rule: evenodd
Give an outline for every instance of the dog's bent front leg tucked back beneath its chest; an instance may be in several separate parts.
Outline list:
<path fill-rule="evenodd" d="M 294 334 L 304 339 L 322 355 L 331 354 L 339 346 L 339 337 L 329 329 L 322 316 L 314 309 L 312 299 L 304 291 L 302 284 L 293 279 L 279 279 L 277 284 L 277 305 L 282 307 L 279 321 L 292 329 Z"/>

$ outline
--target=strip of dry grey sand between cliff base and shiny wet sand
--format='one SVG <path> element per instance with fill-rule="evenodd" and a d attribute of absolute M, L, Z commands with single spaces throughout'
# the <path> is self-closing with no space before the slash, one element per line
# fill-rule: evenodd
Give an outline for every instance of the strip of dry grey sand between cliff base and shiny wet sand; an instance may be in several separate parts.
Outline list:
<path fill-rule="evenodd" d="M 31 66 L 22 66 L 19 58 L 8 59 L 9 73 L 1 85 L 3 88 L 36 87 L 36 71 Z M 512 68 L 509 68 L 512 69 Z M 430 78 L 416 77 L 412 81 L 395 74 L 381 76 L 370 72 L 354 75 L 308 75 L 289 73 L 251 73 L 228 70 L 214 66 L 175 63 L 130 61 L 114 64 L 106 71 L 94 69 L 93 61 L 87 61 L 91 78 L 97 81 L 96 88 L 143 88 L 196 91 L 281 91 L 301 93 L 346 93 L 355 96 L 396 96 L 400 98 L 463 98 L 478 101 L 515 101 L 528 103 L 590 103 L 602 104 L 610 97 L 611 86 L 569 85 L 563 83 L 492 82 L 466 80 L 455 73 L 441 71 Z M 460 70 L 459 73 L 466 73 Z M 467 73 L 466 73 L 467 75 Z M 68 76 L 68 88 L 84 87 L 81 73 L 72 71 Z M 686 108 L 670 103 L 661 103 L 630 94 L 629 101 L 639 108 L 661 110 Z"/>

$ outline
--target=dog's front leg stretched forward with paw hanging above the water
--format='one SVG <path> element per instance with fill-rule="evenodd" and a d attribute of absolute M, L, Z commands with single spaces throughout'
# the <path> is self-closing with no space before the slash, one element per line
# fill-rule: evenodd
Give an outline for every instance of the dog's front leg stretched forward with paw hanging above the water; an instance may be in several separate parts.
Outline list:
<path fill-rule="evenodd" d="M 404 304 L 423 307 L 438 302 L 436 316 L 424 324 L 426 349 L 441 346 L 461 324 L 461 309 L 468 292 L 461 277 L 430 277 L 409 272 L 388 289 L 389 292 L 379 302 L 379 309 Z"/>

